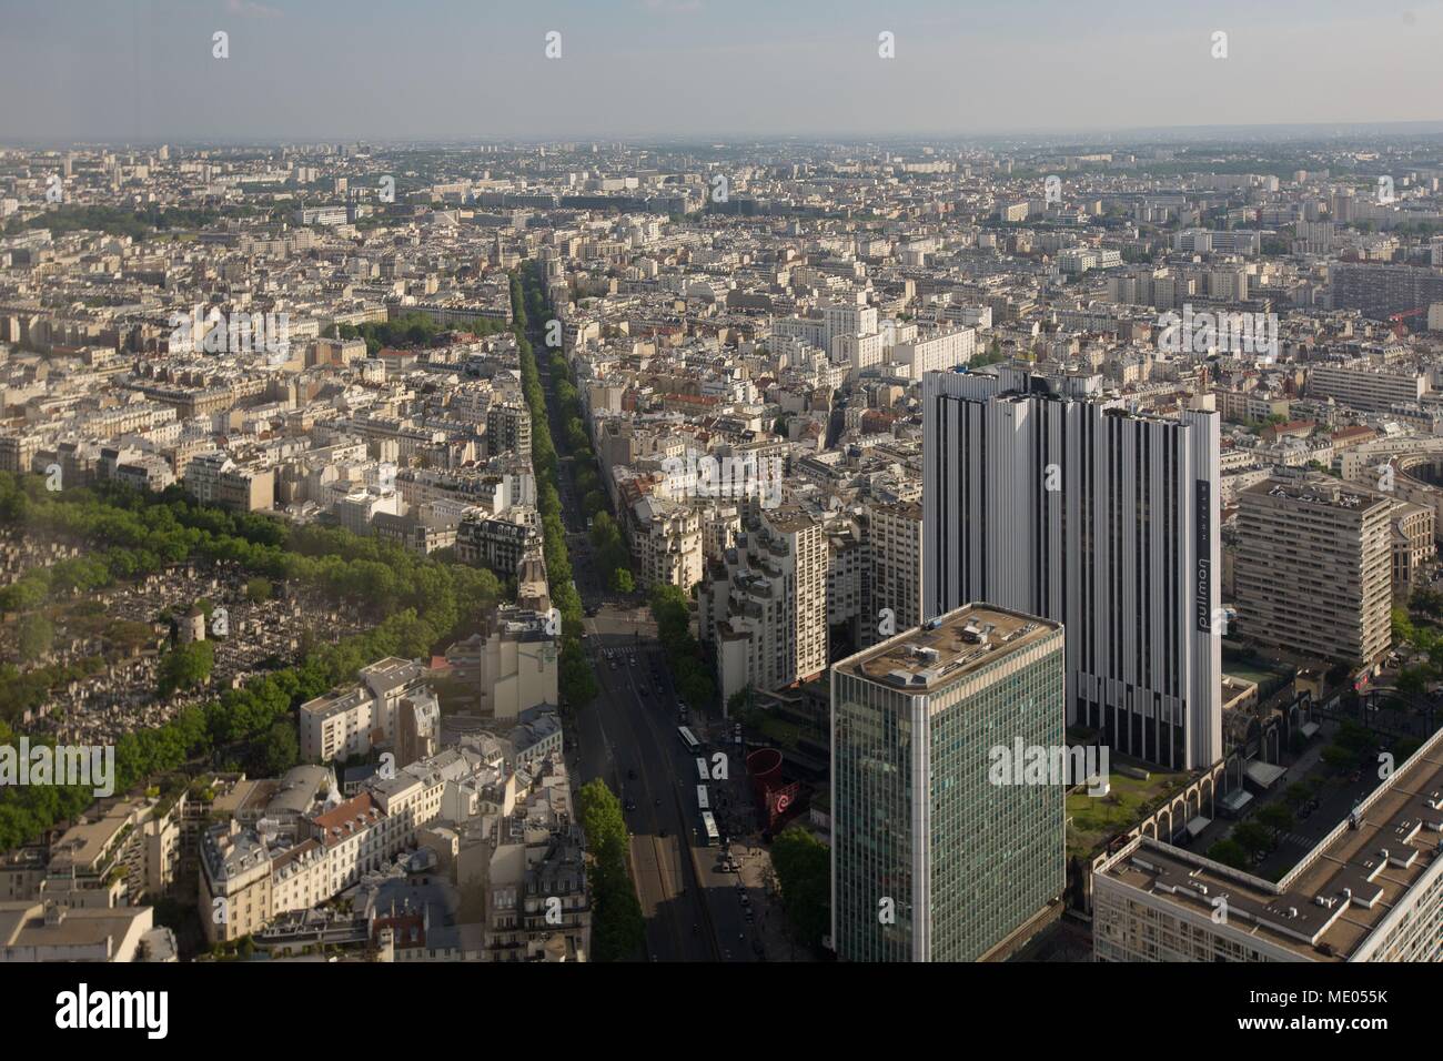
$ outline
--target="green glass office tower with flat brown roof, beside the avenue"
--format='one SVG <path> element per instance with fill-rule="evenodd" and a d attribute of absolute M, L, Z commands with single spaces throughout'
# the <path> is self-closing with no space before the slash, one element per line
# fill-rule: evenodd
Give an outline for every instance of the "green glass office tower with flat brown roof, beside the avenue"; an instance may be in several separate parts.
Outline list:
<path fill-rule="evenodd" d="M 1059 624 L 968 605 L 831 668 L 840 959 L 975 961 L 1062 894 L 1063 785 L 1010 767 L 1065 743 L 1063 655 Z"/>

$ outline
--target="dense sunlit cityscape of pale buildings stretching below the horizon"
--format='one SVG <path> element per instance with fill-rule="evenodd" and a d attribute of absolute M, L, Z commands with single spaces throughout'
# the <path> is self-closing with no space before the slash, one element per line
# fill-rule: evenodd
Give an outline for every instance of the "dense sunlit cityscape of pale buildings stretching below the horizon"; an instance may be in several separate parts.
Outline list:
<path fill-rule="evenodd" d="M 0 396 L 0 963 L 1443 961 L 1443 126 L 19 137 Z"/>

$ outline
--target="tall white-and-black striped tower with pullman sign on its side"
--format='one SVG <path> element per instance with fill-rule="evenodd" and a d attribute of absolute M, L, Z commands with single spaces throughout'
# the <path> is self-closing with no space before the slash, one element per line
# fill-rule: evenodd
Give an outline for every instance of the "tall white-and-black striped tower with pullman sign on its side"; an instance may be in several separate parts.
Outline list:
<path fill-rule="evenodd" d="M 1218 414 L 1019 368 L 931 372 L 924 409 L 926 618 L 1062 622 L 1068 725 L 1172 768 L 1221 758 Z"/>

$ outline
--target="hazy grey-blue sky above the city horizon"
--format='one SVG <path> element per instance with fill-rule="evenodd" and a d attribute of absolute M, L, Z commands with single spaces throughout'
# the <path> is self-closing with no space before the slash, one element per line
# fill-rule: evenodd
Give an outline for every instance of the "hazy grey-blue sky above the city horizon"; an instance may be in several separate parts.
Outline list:
<path fill-rule="evenodd" d="M 1443 0 L 0 0 L 0 140 L 1434 121 L 1440 55 Z"/>

